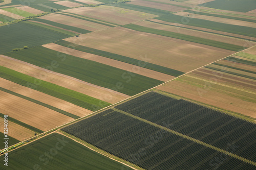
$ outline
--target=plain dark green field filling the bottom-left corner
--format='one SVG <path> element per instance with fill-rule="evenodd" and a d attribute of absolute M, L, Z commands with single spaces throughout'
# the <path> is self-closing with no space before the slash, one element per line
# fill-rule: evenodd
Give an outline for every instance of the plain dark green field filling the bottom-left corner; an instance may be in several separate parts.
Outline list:
<path fill-rule="evenodd" d="M 49 157 L 45 153 L 49 152 Z M 21 159 L 22 158 L 22 159 Z M 113 170 L 129 167 L 84 147 L 82 144 L 52 133 L 8 154 L 8 168 L 0 157 L 0 169 L 90 169 Z"/>

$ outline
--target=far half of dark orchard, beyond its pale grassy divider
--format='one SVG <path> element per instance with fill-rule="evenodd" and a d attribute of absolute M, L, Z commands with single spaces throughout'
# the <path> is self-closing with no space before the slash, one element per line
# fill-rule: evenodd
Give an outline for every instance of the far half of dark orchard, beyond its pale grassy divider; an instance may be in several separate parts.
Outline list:
<path fill-rule="evenodd" d="M 156 92 L 148 92 L 115 108 L 161 126 L 172 124 L 168 127 L 171 130 L 256 160 L 256 150 L 248 150 L 248 142 L 256 144 L 256 125 L 253 123 Z M 230 145 L 238 147 L 230 150 Z"/>

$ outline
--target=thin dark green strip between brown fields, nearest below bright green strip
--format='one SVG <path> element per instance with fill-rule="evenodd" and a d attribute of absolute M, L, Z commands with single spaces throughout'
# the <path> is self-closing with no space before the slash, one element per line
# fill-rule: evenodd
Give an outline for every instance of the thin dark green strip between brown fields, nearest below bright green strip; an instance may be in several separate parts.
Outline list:
<path fill-rule="evenodd" d="M 0 87 L 0 90 L 1 90 L 1 91 L 4 91 L 4 92 L 7 92 L 7 93 L 9 93 L 9 94 L 12 94 L 12 95 L 16 95 L 16 96 L 18 96 L 19 98 L 26 99 L 26 100 L 28 100 L 28 101 L 30 101 L 30 102 L 33 102 L 33 103 L 36 103 L 36 104 L 38 104 L 38 105 L 47 107 L 47 108 L 49 108 L 49 109 L 51 109 L 51 110 L 54 110 L 54 111 L 56 111 L 56 112 L 59 112 L 59 113 L 61 113 L 61 114 L 66 115 L 66 116 L 72 117 L 72 118 L 74 118 L 74 119 L 79 118 L 79 116 L 77 116 L 77 115 L 71 114 L 71 113 L 69 113 L 69 112 L 66 112 L 66 111 L 64 111 L 64 110 L 58 109 L 58 108 L 53 107 L 53 106 L 51 106 L 51 105 L 42 103 L 42 102 L 40 102 L 40 101 L 31 99 L 31 98 L 29 98 L 29 97 L 27 97 L 27 96 L 25 96 L 25 95 L 18 94 L 18 93 L 16 93 L 16 92 L 11 91 L 11 90 L 8 90 L 8 89 L 2 88 L 2 87 Z"/>

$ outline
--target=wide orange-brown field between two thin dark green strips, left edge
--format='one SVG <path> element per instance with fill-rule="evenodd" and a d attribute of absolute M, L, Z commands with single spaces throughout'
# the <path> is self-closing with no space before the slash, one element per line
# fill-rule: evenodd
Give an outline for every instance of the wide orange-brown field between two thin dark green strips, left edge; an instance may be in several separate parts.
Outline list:
<path fill-rule="evenodd" d="M 0 91 L 0 112 L 8 114 L 25 124 L 47 131 L 73 120 L 73 118 L 18 98 L 15 95 Z"/>

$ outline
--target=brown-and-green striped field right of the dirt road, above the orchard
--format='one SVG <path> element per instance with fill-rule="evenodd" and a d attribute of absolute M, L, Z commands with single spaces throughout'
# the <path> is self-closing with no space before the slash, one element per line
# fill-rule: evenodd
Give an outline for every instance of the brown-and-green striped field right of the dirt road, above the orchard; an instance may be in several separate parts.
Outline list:
<path fill-rule="evenodd" d="M 255 51 L 255 47 L 238 55 L 251 51 Z M 255 118 L 255 66 L 255 60 L 231 56 L 158 89 Z"/>

